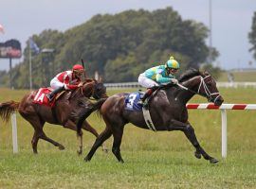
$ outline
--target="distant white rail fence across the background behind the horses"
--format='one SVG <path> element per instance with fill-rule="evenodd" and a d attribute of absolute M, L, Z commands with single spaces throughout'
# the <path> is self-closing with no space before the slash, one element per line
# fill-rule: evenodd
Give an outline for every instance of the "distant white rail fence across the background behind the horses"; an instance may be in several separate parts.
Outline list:
<path fill-rule="evenodd" d="M 141 88 L 137 82 L 120 82 L 120 83 L 105 83 L 107 88 Z M 256 82 L 217 82 L 217 87 L 237 88 L 237 87 L 253 87 L 256 88 Z"/>

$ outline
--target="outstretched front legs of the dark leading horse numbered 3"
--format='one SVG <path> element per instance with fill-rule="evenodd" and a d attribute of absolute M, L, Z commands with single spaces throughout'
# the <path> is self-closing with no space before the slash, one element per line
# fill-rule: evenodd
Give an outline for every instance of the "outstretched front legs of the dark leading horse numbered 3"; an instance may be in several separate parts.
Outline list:
<path fill-rule="evenodd" d="M 196 151 L 194 153 L 196 158 L 201 158 L 201 155 L 206 159 L 209 160 L 210 163 L 217 163 L 218 160 L 210 157 L 210 155 L 199 145 L 199 142 L 197 141 L 197 138 L 194 133 L 194 129 L 192 128 L 192 125 L 190 123 L 182 123 L 177 120 L 172 120 L 172 126 L 170 129 L 173 130 L 181 130 L 184 132 L 186 137 L 189 139 L 189 141 L 192 143 L 192 146 L 195 147 Z"/>

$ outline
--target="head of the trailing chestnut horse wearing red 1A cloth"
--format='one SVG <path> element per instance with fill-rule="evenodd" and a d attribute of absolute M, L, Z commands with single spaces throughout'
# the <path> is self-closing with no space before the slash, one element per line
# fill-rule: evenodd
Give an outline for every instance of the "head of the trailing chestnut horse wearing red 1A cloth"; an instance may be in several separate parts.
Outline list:
<path fill-rule="evenodd" d="M 82 94 L 86 97 L 93 96 L 95 99 L 106 98 L 106 87 L 96 79 L 86 79 L 82 84 Z"/>

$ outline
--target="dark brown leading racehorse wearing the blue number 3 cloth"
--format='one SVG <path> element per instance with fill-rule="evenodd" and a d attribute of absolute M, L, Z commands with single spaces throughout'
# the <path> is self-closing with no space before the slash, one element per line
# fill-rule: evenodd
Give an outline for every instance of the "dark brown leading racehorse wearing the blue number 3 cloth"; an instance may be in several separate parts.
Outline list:
<path fill-rule="evenodd" d="M 201 147 L 196 139 L 194 129 L 188 121 L 187 102 L 194 94 L 200 94 L 208 98 L 214 105 L 220 106 L 223 103 L 223 97 L 219 94 L 216 82 L 207 72 L 200 72 L 195 69 L 186 71 L 178 79 L 177 85 L 168 84 L 155 91 L 149 100 L 150 114 L 156 130 L 180 130 L 183 131 L 192 146 L 195 147 L 194 156 L 198 159 L 201 155 L 209 160 L 210 163 L 217 163 L 218 160 L 210 155 Z M 106 99 L 101 106 L 101 115 L 106 124 L 106 128 L 96 139 L 91 150 L 84 158 L 90 161 L 95 151 L 111 135 L 114 137 L 112 152 L 120 163 L 123 160 L 120 155 L 120 144 L 124 125 L 132 123 L 133 125 L 149 129 L 144 120 L 142 112 L 132 112 L 125 109 L 125 98 L 127 93 L 115 94 Z M 91 113 L 90 110 L 84 111 L 78 120 L 78 134 L 82 128 L 82 121 Z"/>

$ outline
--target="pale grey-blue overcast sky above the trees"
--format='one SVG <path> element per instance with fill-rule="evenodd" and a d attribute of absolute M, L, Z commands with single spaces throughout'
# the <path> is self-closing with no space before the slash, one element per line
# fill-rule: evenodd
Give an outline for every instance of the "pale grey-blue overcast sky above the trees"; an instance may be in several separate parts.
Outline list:
<path fill-rule="evenodd" d="M 127 9 L 173 7 L 183 19 L 210 26 L 210 0 L 0 0 L 0 42 L 17 39 L 25 47 L 28 37 L 46 28 L 64 31 L 81 25 L 95 14 L 115 14 Z M 224 68 L 249 67 L 248 32 L 251 29 L 255 0 L 211 0 L 212 46 L 219 52 L 216 63 Z M 209 40 L 207 40 L 209 44 Z M 20 60 L 13 60 L 16 64 Z M 182 62 L 181 62 L 182 63 Z M 0 60 L 0 70 L 9 69 L 9 60 Z"/>

